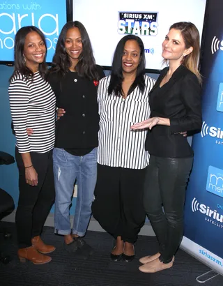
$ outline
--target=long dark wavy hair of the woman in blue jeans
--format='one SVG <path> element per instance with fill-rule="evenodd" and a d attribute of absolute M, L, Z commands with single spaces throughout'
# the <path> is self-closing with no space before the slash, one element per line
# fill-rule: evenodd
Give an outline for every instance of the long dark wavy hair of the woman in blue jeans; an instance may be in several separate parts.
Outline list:
<path fill-rule="evenodd" d="M 75 27 L 79 29 L 82 36 L 82 54 L 80 55 L 77 66 L 75 66 L 77 74 L 82 77 L 87 77 L 90 80 L 99 80 L 89 34 L 84 28 L 84 25 L 79 21 L 71 21 L 63 26 L 56 44 L 56 51 L 53 58 L 53 68 L 51 68 L 51 72 L 59 73 L 59 75 L 64 77 L 72 65 L 70 57 L 65 49 L 65 41 L 68 29 Z"/>

